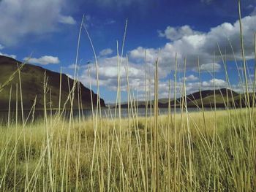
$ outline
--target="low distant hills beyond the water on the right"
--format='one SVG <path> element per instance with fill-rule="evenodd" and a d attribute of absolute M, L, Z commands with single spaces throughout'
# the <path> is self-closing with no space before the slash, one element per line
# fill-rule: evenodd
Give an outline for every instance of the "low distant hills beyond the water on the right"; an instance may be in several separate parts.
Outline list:
<path fill-rule="evenodd" d="M 214 96 L 215 93 L 215 96 Z M 214 107 L 214 100 L 216 107 L 245 107 L 246 106 L 246 93 L 237 93 L 236 91 L 232 91 L 228 88 L 221 88 L 217 90 L 206 90 L 206 91 L 197 91 L 195 93 L 189 94 L 187 96 L 176 99 L 176 107 L 181 107 L 181 103 L 185 102 L 187 99 L 187 107 Z M 202 98 L 202 99 L 201 99 Z M 253 93 L 249 93 L 249 103 L 252 105 Z M 159 107 L 168 107 L 169 99 L 159 99 L 158 106 Z M 174 99 L 170 99 L 171 107 L 174 107 Z M 152 105 L 154 105 L 154 101 L 152 101 Z M 145 107 L 145 101 L 138 101 L 138 107 Z M 121 107 L 127 108 L 128 104 L 121 104 Z M 148 101 L 148 107 L 150 107 L 150 103 Z"/>

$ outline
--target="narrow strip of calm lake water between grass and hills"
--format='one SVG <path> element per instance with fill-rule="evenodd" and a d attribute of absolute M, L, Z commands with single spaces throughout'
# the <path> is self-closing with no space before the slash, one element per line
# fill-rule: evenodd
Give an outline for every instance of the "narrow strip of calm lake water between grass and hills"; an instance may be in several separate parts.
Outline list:
<path fill-rule="evenodd" d="M 205 108 L 206 111 L 211 111 L 211 108 Z M 224 108 L 218 108 L 217 110 L 224 110 Z M 198 108 L 188 108 L 189 112 L 200 112 L 201 110 Z M 50 117 L 50 115 L 56 115 L 58 114 L 58 110 L 53 110 L 52 112 L 50 112 L 49 110 L 47 111 L 47 115 L 48 117 Z M 172 108 L 171 112 L 174 112 L 174 109 Z M 180 113 L 181 109 L 177 108 L 176 109 L 176 113 Z M 94 111 L 94 114 L 96 113 L 96 111 Z M 0 111 L 0 122 L 6 124 L 8 122 L 8 111 Z M 107 109 L 107 108 L 102 108 L 102 118 L 115 118 L 115 109 Z M 138 115 L 139 117 L 145 117 L 146 116 L 146 109 L 144 108 L 139 108 L 133 111 L 134 115 Z M 152 108 L 152 110 L 148 109 L 148 116 L 150 116 L 150 114 L 154 115 L 154 109 Z M 159 108 L 159 115 L 167 115 L 168 114 L 168 108 Z M 78 110 L 73 110 L 73 115 L 75 118 L 79 117 L 79 111 Z M 99 112 L 98 112 L 99 115 Z M 128 116 L 130 115 L 130 117 L 132 117 L 132 111 L 130 109 L 130 111 L 128 112 L 127 109 L 121 109 L 121 117 L 122 118 L 128 118 Z M 33 115 L 29 115 L 29 110 L 24 110 L 23 111 L 23 116 L 24 116 L 24 120 L 39 120 L 44 118 L 44 111 L 43 110 L 36 110 L 34 112 L 34 116 Z M 80 117 L 84 117 L 84 118 L 91 118 L 92 117 L 92 112 L 91 110 L 83 110 L 83 112 L 80 110 Z M 70 110 L 64 110 L 62 117 L 64 118 L 69 118 L 70 117 Z M 118 110 L 116 110 L 116 118 L 118 118 Z M 16 112 L 15 111 L 11 111 L 10 112 L 10 122 L 15 122 L 16 119 Z M 20 111 L 18 111 L 18 121 L 22 122 L 22 113 Z"/>

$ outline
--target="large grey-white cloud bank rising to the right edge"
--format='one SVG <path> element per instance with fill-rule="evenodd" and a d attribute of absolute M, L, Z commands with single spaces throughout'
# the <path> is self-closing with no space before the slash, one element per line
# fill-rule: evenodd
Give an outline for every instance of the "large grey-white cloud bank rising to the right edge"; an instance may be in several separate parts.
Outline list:
<path fill-rule="evenodd" d="M 256 31 L 256 15 L 242 18 L 244 34 L 244 47 L 246 59 L 254 58 L 253 34 Z M 227 61 L 241 60 L 241 44 L 238 20 L 235 23 L 222 23 L 210 28 L 208 32 L 195 31 L 189 26 L 178 28 L 167 26 L 165 31 L 159 31 L 160 37 L 169 39 L 165 46 L 156 48 L 137 47 L 129 52 L 130 60 L 141 63 L 147 53 L 147 61 L 154 63 L 159 57 L 159 67 L 165 74 L 174 69 L 175 53 L 178 53 L 178 66 L 183 66 L 184 58 L 187 57 L 187 68 L 195 69 L 197 59 L 200 58 L 202 70 L 211 71 L 213 68 L 213 55 L 215 53 L 215 70 L 221 69 L 221 55 L 225 55 Z M 230 46 L 232 45 L 232 48 Z M 219 45 L 219 48 L 218 48 Z M 234 53 L 233 53 L 234 52 Z"/>

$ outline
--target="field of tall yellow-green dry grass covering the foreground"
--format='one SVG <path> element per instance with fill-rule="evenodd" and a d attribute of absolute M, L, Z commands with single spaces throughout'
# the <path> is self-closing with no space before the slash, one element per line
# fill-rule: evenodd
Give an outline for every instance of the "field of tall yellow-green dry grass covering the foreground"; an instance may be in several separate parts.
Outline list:
<path fill-rule="evenodd" d="M 0 189 L 254 191 L 253 116 L 248 109 L 161 115 L 157 143 L 154 116 L 2 126 Z"/>

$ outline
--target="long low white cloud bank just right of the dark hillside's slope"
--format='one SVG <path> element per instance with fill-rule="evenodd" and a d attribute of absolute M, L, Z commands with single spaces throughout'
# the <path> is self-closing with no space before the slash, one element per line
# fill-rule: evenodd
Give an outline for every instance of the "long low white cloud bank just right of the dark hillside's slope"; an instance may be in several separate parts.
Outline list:
<path fill-rule="evenodd" d="M 121 59 L 121 58 L 119 58 Z M 127 91 L 127 70 L 126 70 L 126 61 L 125 58 L 122 58 L 123 64 L 120 69 L 121 77 L 121 91 Z M 118 77 L 118 68 L 117 68 L 117 57 L 111 58 L 99 58 L 99 85 L 107 88 L 109 91 L 117 90 L 117 77 Z M 83 69 L 80 73 L 79 79 L 83 82 L 84 85 L 89 87 L 89 71 L 91 76 L 91 85 L 97 85 L 97 76 L 94 64 L 88 64 L 87 69 Z M 145 68 L 141 64 L 135 64 L 129 62 L 129 86 L 135 92 L 138 92 L 138 99 L 143 100 L 145 93 Z M 183 72 L 181 72 L 183 75 Z M 159 72 L 159 98 L 166 98 L 168 96 L 169 82 L 161 78 L 162 72 Z M 180 76 L 178 74 L 178 76 Z M 191 74 L 186 78 L 186 88 L 187 94 L 194 93 L 199 91 L 201 86 L 202 90 L 214 89 L 215 88 L 224 88 L 226 87 L 225 80 L 222 79 L 211 79 L 204 80 L 203 82 L 198 81 L 198 77 Z M 147 64 L 147 74 L 146 74 L 146 83 L 147 87 L 151 88 L 152 93 L 154 93 L 154 65 Z M 173 80 L 171 84 L 174 85 Z M 177 82 L 177 91 L 178 96 L 181 94 L 183 86 L 183 78 L 180 78 Z M 172 96 L 173 96 L 173 86 L 172 86 Z M 154 97 L 153 97 L 154 98 Z"/>

